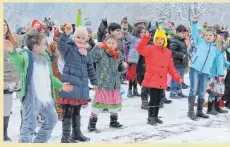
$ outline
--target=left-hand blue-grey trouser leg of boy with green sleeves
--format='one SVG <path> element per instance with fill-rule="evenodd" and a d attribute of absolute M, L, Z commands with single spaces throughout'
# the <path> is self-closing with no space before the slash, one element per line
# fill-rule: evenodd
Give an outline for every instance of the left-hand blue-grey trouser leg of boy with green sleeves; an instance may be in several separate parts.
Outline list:
<path fill-rule="evenodd" d="M 37 110 L 36 103 L 32 97 L 26 97 L 22 104 L 22 120 L 20 127 L 19 142 L 32 143 L 33 134 L 36 129 Z"/>

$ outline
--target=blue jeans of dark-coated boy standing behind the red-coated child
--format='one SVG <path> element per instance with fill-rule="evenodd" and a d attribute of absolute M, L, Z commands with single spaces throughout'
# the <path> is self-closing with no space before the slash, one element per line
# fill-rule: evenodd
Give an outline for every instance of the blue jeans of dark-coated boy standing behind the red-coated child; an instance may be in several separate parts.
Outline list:
<path fill-rule="evenodd" d="M 180 76 L 184 78 L 186 68 L 176 68 L 176 70 Z M 177 95 L 179 93 L 182 93 L 182 84 L 176 83 L 176 81 L 172 79 L 170 86 L 170 96 Z"/>

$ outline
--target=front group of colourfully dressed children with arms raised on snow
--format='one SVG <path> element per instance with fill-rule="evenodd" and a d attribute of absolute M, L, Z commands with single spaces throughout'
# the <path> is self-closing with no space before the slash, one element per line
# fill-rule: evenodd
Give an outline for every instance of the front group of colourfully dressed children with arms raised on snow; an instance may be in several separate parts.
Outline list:
<path fill-rule="evenodd" d="M 197 17 L 194 17 L 191 31 L 197 47 L 197 51 L 191 57 L 189 73 L 188 117 L 192 120 L 197 120 L 198 117 L 208 118 L 202 111 L 208 83 L 208 113 L 216 114 L 213 109 L 216 107 L 215 110 L 218 112 L 224 112 L 219 107 L 219 100 L 223 95 L 224 67 L 230 65 L 224 58 L 224 50 L 229 47 L 229 43 L 221 44 L 220 38 L 212 28 L 208 28 L 204 35 L 200 36 L 197 21 Z M 104 109 L 110 111 L 110 127 L 122 128 L 123 125 L 118 121 L 118 112 L 122 107 L 120 80 L 122 72 L 128 69 L 128 96 L 140 96 L 137 92 L 136 76 L 140 55 L 146 63 L 141 86 L 149 89 L 150 96 L 147 123 L 163 123 L 158 114 L 162 93 L 168 87 L 168 73 L 177 83 L 183 82 L 183 77 L 174 67 L 172 52 L 167 48 L 166 32 L 158 26 L 151 37 L 144 26 L 138 26 L 135 35 L 129 34 L 124 28 L 127 26 L 122 28 L 117 23 L 111 23 L 107 28 L 108 34 L 103 35 L 103 41 L 90 48 L 89 29 L 78 26 L 73 31 L 72 25 L 65 23 L 59 38 L 56 39 L 56 56 L 64 61 L 60 80 L 53 76 L 52 63 L 46 52 L 46 37 L 39 21 L 33 23 L 32 29 L 26 33 L 27 49 L 18 50 L 12 39 L 4 38 L 4 50 L 8 52 L 10 61 L 21 74 L 22 124 L 19 142 L 45 143 L 50 139 L 58 120 L 54 89 L 59 91 L 61 97 L 58 102 L 62 106 L 61 142 L 89 141 L 90 139 L 81 132 L 80 115 L 82 105 L 89 101 L 88 80 L 95 90 L 88 130 L 97 131 L 98 116 Z M 131 42 L 127 58 L 119 43 L 123 35 Z M 57 58 L 53 59 L 57 61 Z M 198 106 L 195 114 L 197 95 Z M 38 133 L 34 134 L 38 114 L 42 117 L 43 123 Z"/>

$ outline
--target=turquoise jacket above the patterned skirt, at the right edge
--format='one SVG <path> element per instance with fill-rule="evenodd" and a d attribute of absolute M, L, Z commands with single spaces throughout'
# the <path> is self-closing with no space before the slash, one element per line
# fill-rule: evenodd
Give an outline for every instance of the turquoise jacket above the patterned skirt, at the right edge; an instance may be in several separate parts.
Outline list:
<path fill-rule="evenodd" d="M 224 52 L 222 52 L 222 54 L 220 54 L 218 58 L 215 59 L 209 77 L 213 78 L 218 76 L 224 76 L 225 69 L 229 67 L 230 67 L 230 62 L 227 61 Z M 218 68 L 219 70 L 217 70 Z"/>

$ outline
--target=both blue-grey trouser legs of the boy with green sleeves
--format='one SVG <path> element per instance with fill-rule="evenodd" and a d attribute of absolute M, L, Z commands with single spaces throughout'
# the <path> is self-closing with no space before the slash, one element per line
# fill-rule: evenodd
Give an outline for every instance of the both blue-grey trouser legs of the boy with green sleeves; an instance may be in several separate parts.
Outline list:
<path fill-rule="evenodd" d="M 38 114 L 42 117 L 43 124 L 33 140 Z M 43 104 L 35 97 L 33 98 L 33 96 L 25 98 L 22 104 L 22 122 L 19 142 L 48 142 L 57 121 L 58 116 L 53 102 Z"/>

